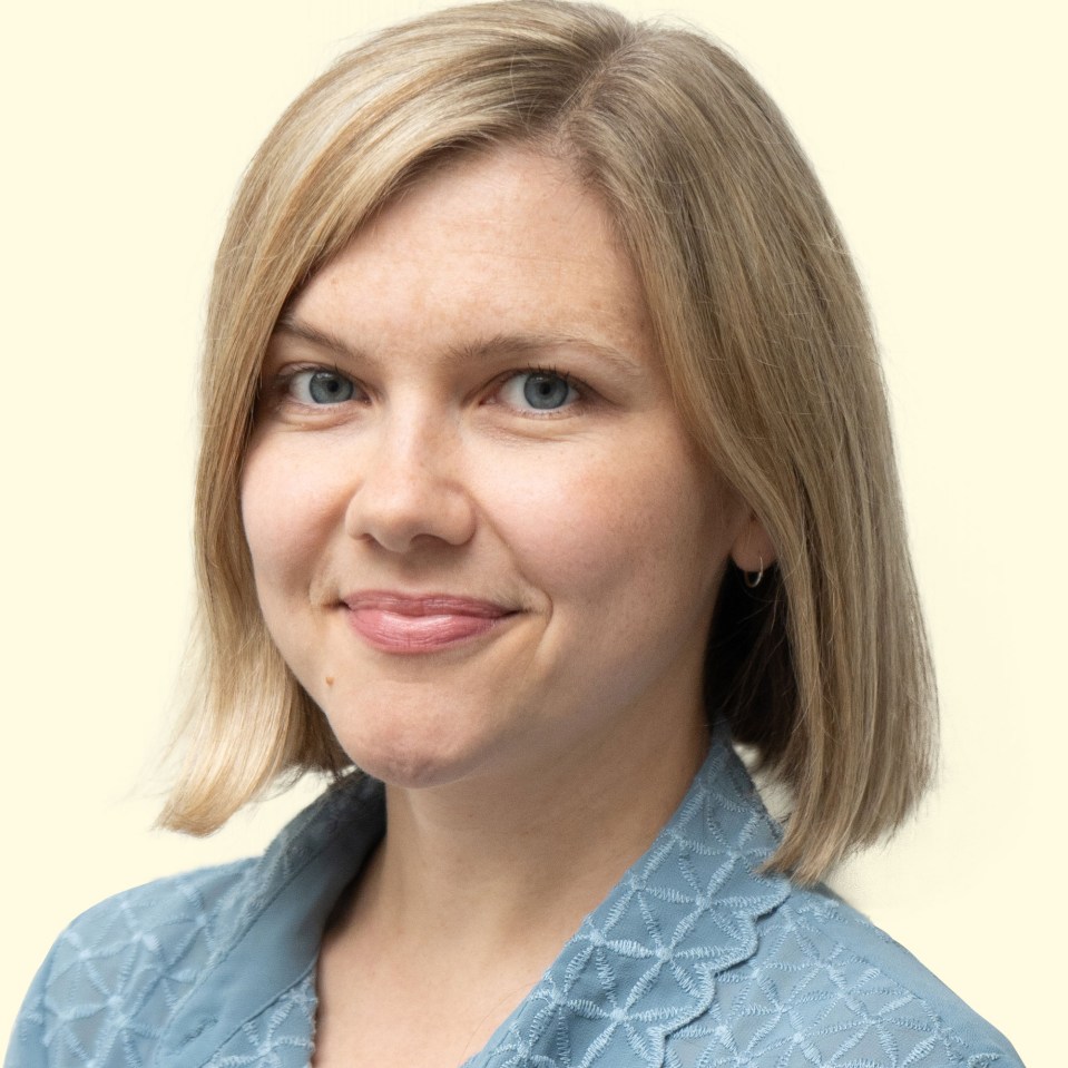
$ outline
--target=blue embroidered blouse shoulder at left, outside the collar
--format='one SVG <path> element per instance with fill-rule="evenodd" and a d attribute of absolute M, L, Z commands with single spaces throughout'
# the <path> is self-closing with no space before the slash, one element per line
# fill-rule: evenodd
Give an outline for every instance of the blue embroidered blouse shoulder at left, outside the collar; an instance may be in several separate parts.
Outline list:
<path fill-rule="evenodd" d="M 218 928 L 253 866 L 237 861 L 159 879 L 79 915 L 27 993 L 6 1064 L 43 1064 L 46 1047 L 59 1054 L 56 1064 L 91 1064 L 95 1054 L 102 1062 L 101 1046 L 119 1035 L 150 1041 L 212 959 Z M 143 1062 L 129 1054 L 131 1064 Z"/>

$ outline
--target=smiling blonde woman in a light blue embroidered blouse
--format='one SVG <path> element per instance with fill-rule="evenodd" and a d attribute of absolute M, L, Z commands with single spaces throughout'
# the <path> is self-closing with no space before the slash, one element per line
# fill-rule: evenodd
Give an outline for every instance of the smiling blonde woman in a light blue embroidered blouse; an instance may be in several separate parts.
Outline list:
<path fill-rule="evenodd" d="M 931 685 L 860 287 L 729 57 L 381 35 L 253 161 L 208 336 L 164 821 L 340 781 L 76 921 L 14 1064 L 1019 1064 L 812 889 L 920 795 Z"/>

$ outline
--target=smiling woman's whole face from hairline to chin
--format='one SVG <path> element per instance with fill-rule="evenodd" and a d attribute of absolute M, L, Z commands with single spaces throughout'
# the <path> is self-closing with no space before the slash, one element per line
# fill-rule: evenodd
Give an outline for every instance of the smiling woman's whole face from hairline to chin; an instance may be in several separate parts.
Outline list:
<path fill-rule="evenodd" d="M 282 655 L 409 786 L 693 731 L 746 519 L 605 209 L 520 150 L 423 178 L 292 303 L 242 510 Z"/>

